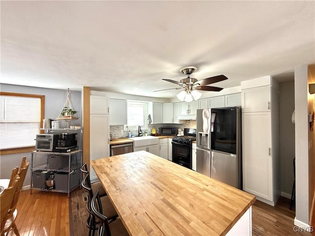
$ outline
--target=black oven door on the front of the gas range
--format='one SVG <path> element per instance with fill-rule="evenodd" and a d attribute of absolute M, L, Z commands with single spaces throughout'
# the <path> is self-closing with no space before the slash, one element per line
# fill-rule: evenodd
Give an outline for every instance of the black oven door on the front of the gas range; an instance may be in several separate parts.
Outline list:
<path fill-rule="evenodd" d="M 185 145 L 172 141 L 172 162 L 191 170 L 191 155 L 191 145 Z"/>

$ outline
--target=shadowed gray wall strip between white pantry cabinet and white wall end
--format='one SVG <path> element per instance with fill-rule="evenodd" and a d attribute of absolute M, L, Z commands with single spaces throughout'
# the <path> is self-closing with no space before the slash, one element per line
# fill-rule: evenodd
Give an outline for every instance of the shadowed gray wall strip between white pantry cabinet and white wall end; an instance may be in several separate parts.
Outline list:
<path fill-rule="evenodd" d="M 294 81 L 280 83 L 279 90 L 281 192 L 289 197 L 292 192 L 295 157 L 295 127 L 291 121 L 294 111 Z"/>

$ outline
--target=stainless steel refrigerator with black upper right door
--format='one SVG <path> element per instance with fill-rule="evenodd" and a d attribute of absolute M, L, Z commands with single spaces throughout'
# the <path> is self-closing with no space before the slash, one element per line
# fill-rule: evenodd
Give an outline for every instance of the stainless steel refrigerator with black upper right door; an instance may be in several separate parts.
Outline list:
<path fill-rule="evenodd" d="M 197 110 L 196 171 L 242 189 L 241 107 Z"/>

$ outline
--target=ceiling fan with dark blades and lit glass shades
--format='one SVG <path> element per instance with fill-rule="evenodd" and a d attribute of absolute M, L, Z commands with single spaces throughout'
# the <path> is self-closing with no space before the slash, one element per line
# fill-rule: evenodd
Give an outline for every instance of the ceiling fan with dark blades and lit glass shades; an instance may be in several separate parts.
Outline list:
<path fill-rule="evenodd" d="M 179 94 L 177 94 L 177 97 L 181 101 L 185 100 L 187 102 L 191 102 L 192 98 L 194 100 L 198 100 L 201 97 L 201 93 L 196 90 L 221 91 L 223 89 L 223 88 L 213 87 L 213 86 L 208 86 L 208 85 L 217 83 L 223 80 L 227 80 L 226 76 L 217 75 L 217 76 L 209 77 L 203 80 L 197 80 L 195 78 L 190 77 L 190 75 L 196 70 L 197 70 L 197 67 L 194 67 L 194 66 L 186 66 L 180 69 L 180 72 L 182 74 L 188 75 L 187 78 L 182 79 L 180 82 L 177 82 L 175 80 L 169 80 L 169 79 L 162 79 L 162 80 L 165 80 L 167 82 L 171 82 L 180 86 L 179 88 L 174 88 L 174 89 L 184 89 Z M 170 89 L 160 89 L 160 90 L 155 90 L 154 92 L 163 91 L 163 90 L 170 90 Z"/>

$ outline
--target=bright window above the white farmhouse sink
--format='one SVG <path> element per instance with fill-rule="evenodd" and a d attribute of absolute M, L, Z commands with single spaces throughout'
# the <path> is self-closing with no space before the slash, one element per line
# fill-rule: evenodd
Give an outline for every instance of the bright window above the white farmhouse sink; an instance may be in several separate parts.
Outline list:
<path fill-rule="evenodd" d="M 149 102 L 127 101 L 127 124 L 130 130 L 138 130 L 138 126 L 148 129 Z"/>

